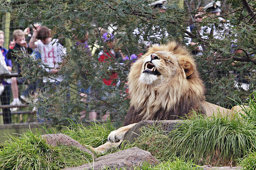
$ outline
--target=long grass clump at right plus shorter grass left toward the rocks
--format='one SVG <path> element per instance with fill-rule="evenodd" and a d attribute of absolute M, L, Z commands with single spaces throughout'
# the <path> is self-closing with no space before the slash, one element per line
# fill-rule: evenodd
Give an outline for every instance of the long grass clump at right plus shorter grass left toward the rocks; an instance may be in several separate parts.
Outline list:
<path fill-rule="evenodd" d="M 194 118 L 169 135 L 160 127 L 144 127 L 135 143 L 161 162 L 182 158 L 194 164 L 234 166 L 238 159 L 256 150 L 256 124 L 241 118 Z"/>

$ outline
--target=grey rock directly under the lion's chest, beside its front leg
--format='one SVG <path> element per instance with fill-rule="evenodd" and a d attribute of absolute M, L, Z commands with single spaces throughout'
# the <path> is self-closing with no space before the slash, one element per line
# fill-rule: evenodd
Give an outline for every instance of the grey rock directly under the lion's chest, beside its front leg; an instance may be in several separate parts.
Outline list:
<path fill-rule="evenodd" d="M 164 121 L 140 121 L 135 126 L 133 126 L 129 131 L 127 131 L 124 135 L 124 140 L 130 141 L 132 143 L 135 138 L 138 138 L 141 134 L 140 128 L 143 126 L 150 126 L 150 125 L 160 125 L 164 131 L 167 133 L 173 131 L 177 127 L 182 124 L 182 120 L 164 120 Z"/>

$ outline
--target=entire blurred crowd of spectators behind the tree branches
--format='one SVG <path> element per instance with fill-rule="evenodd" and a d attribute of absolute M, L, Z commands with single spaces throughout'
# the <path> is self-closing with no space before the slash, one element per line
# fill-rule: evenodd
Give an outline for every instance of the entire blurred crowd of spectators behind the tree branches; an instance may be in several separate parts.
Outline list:
<path fill-rule="evenodd" d="M 160 8 L 161 12 L 164 12 L 166 10 L 166 7 L 164 6 L 166 4 L 166 0 L 158 0 L 152 4 L 150 4 L 153 8 Z M 196 23 L 198 24 L 200 21 L 202 21 L 203 18 L 206 17 L 206 14 L 211 17 L 218 17 L 220 15 L 220 2 L 214 1 L 209 4 L 207 4 L 204 7 L 200 7 L 197 10 L 196 15 L 194 16 L 196 19 Z M 221 17 L 218 17 L 218 20 L 220 21 L 220 28 L 216 28 L 215 25 L 205 25 L 199 28 L 200 36 L 203 39 L 208 39 L 208 36 L 211 34 L 214 39 L 223 39 L 223 37 L 226 35 L 226 32 L 230 30 L 230 25 L 226 20 L 224 20 Z M 187 31 L 192 32 L 193 29 L 197 27 L 197 25 L 193 24 L 188 26 Z M 153 30 L 157 30 L 159 33 L 156 33 L 153 39 L 161 39 L 162 37 L 168 37 L 168 30 L 164 29 L 158 29 L 157 27 L 153 28 Z M 77 42 L 74 46 L 80 46 L 86 49 L 86 53 L 89 53 L 90 55 L 94 55 L 98 49 L 100 49 L 100 52 L 98 53 L 98 61 L 102 64 L 108 62 L 108 59 L 118 59 L 120 63 L 123 63 L 125 60 L 129 60 L 132 62 L 135 62 L 138 56 L 142 55 L 135 55 L 132 54 L 130 56 L 124 55 L 122 51 L 114 51 L 114 44 L 115 41 L 115 35 L 113 35 L 111 32 L 107 31 L 104 28 L 98 29 L 102 41 L 106 44 L 106 47 L 99 47 L 98 44 L 93 45 L 93 48 L 89 48 L 87 39 L 88 35 L 85 35 L 82 39 L 77 39 Z M 145 36 L 142 36 L 145 34 L 145 30 L 143 28 L 138 28 L 134 30 L 134 35 L 139 36 L 139 43 L 144 43 L 146 47 L 149 47 L 152 44 L 155 44 L 155 41 L 151 41 L 151 37 L 148 37 L 148 39 L 144 39 Z M 25 37 L 26 35 L 26 37 Z M 187 43 L 186 45 L 193 45 L 196 46 L 195 50 L 193 51 L 194 55 L 200 55 L 203 51 L 202 45 L 198 44 L 198 42 L 193 42 L 189 36 L 185 38 Z M 21 29 L 17 29 L 13 32 L 13 40 L 10 41 L 9 50 L 5 49 L 3 47 L 4 44 L 4 32 L 0 31 L 0 49 L 2 53 L 0 53 L 0 57 L 4 59 L 5 67 L 8 69 L 8 71 L 12 71 L 12 60 L 15 61 L 15 64 L 17 66 L 18 74 L 22 72 L 20 62 L 19 60 L 22 59 L 20 57 L 20 53 L 23 54 L 23 56 L 30 56 L 33 55 L 35 58 L 41 59 L 41 66 L 50 73 L 50 77 L 48 78 L 42 78 L 43 83 L 49 83 L 52 84 L 52 86 L 59 86 L 60 82 L 62 81 L 62 75 L 58 74 L 58 68 L 61 66 L 61 64 L 64 62 L 63 57 L 66 55 L 66 48 L 59 42 L 58 39 L 52 39 L 51 37 L 51 30 L 46 27 L 39 24 L 35 24 L 33 29 L 26 28 L 24 31 Z M 116 70 L 111 70 L 110 68 L 110 74 L 107 77 L 103 77 L 102 81 L 106 86 L 118 86 L 118 73 Z M 11 79 L 1 79 L 1 85 L 4 86 L 4 90 L 2 90 L 2 93 L 0 95 L 1 103 L 2 105 L 11 105 L 11 106 L 18 106 L 22 103 L 28 102 L 28 97 L 30 95 L 34 95 L 36 92 L 36 89 L 38 87 L 38 80 L 37 82 L 28 84 L 28 88 L 26 88 L 21 95 L 19 96 L 19 89 L 18 85 L 23 84 L 25 81 L 24 78 L 16 78 L 12 77 Z M 29 82 L 29 81 L 26 81 Z M 0 89 L 1 91 L 1 89 Z M 97 90 L 94 89 L 94 87 L 90 86 L 88 89 L 80 89 L 80 96 L 82 100 L 97 100 L 96 98 L 93 98 L 91 96 L 88 96 L 87 94 L 96 94 Z M 11 92 L 12 92 L 12 99 L 11 100 Z M 109 94 L 107 94 L 109 95 Z M 107 96 L 106 95 L 106 96 Z M 97 96 L 97 95 L 92 95 Z M 12 123 L 11 119 L 11 111 L 16 111 L 17 107 L 10 107 L 10 108 L 3 108 L 2 113 L 4 117 L 4 124 Z M 81 118 L 84 118 L 85 111 L 82 111 Z M 104 115 L 102 118 L 106 119 L 108 117 L 108 114 Z M 89 120 L 93 120 L 97 118 L 96 111 L 92 110 L 89 113 Z"/>

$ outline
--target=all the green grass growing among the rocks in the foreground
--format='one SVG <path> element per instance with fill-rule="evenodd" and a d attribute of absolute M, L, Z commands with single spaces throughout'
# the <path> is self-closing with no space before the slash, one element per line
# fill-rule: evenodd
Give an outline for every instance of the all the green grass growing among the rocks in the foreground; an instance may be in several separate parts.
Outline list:
<path fill-rule="evenodd" d="M 242 117 L 194 117 L 166 134 L 160 125 L 143 127 L 142 134 L 131 147 L 149 151 L 160 161 L 157 166 L 143 163 L 134 169 L 196 169 L 198 166 L 256 167 L 256 103 L 249 96 L 249 110 Z M 82 145 L 98 147 L 114 130 L 111 123 L 95 123 L 85 127 L 70 121 L 62 133 Z M 52 133 L 52 131 L 47 131 Z M 55 132 L 54 132 L 55 133 Z M 117 152 L 110 150 L 106 154 Z M 71 153 L 71 154 L 70 154 Z M 101 156 L 101 155 L 98 155 Z M 21 137 L 9 137 L 0 149 L 0 169 L 60 169 L 92 162 L 92 157 L 76 147 L 52 147 L 39 133 L 26 132 Z"/>

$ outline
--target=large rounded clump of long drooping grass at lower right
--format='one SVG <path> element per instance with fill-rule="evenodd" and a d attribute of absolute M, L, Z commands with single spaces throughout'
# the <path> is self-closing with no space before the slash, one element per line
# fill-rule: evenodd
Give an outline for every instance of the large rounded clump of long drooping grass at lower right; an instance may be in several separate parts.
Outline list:
<path fill-rule="evenodd" d="M 255 123 L 240 118 L 195 119 L 171 133 L 176 155 L 197 164 L 224 165 L 255 150 Z"/>

